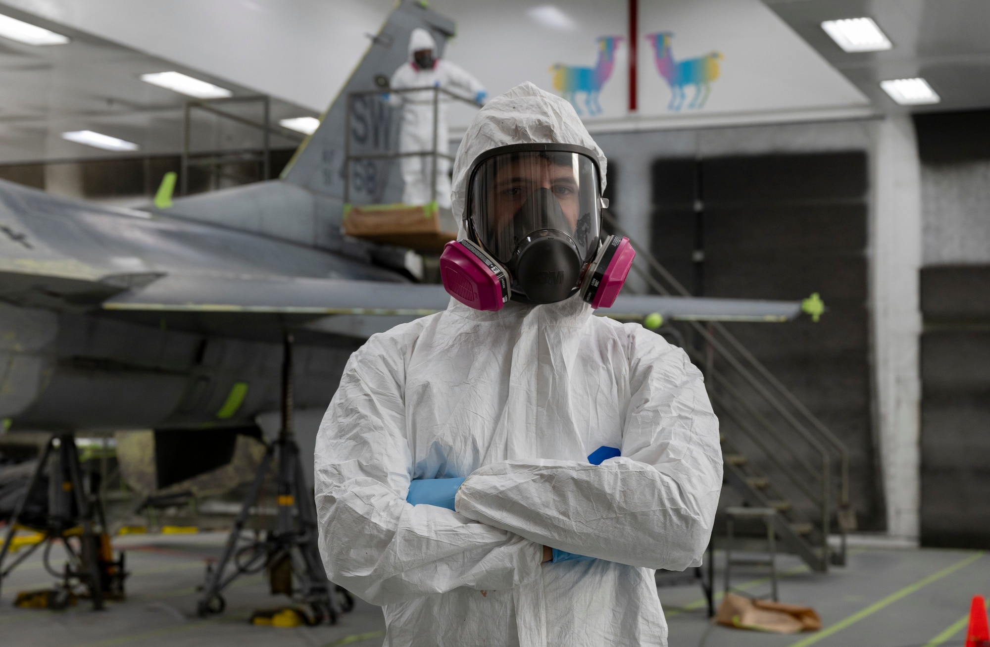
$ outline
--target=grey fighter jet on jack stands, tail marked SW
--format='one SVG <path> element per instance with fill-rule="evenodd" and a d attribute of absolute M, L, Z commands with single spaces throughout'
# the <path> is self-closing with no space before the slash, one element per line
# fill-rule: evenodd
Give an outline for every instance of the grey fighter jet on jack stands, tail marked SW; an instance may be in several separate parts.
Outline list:
<path fill-rule="evenodd" d="M 341 233 L 349 200 L 397 202 L 398 114 L 367 93 L 422 27 L 454 25 L 403 2 L 277 180 L 147 210 L 65 200 L 0 181 L 0 420 L 3 429 L 215 429 L 279 408 L 282 335 L 294 331 L 295 407 L 326 407 L 369 334 L 446 309 L 402 254 Z M 348 111 L 350 112 L 348 118 Z M 351 124 L 349 137 L 345 125 Z M 353 150 L 353 148 L 351 148 Z M 401 251 L 401 250 L 400 250 Z M 623 296 L 599 314 L 787 321 L 799 302 Z"/>

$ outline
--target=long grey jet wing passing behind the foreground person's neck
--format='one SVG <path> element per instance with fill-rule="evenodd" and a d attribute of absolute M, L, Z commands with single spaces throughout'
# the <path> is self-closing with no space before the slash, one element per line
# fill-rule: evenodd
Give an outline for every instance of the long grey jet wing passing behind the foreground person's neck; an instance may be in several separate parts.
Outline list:
<path fill-rule="evenodd" d="M 102 308 L 158 317 L 195 315 L 201 322 L 210 316 L 278 316 L 315 332 L 367 337 L 446 310 L 449 300 L 440 285 L 174 275 L 117 294 Z M 672 321 L 787 322 L 801 314 L 801 302 L 623 295 L 596 315 L 642 321 L 653 313 Z"/>

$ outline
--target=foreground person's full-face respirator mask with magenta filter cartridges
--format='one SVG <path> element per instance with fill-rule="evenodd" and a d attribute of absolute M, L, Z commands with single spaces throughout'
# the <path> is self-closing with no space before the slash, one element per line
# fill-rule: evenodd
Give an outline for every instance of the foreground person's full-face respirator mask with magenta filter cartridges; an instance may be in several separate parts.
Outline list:
<path fill-rule="evenodd" d="M 475 310 L 510 300 L 552 304 L 575 293 L 609 308 L 636 252 L 629 238 L 601 238 L 601 173 L 595 153 L 566 143 L 487 150 L 467 181 L 464 229 L 440 258 L 447 293 Z"/>

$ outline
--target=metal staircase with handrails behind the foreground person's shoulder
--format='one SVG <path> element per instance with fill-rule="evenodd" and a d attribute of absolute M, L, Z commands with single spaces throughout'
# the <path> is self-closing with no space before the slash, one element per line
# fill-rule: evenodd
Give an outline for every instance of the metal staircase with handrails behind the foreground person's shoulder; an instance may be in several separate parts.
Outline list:
<path fill-rule="evenodd" d="M 603 218 L 612 231 L 628 235 L 607 211 Z M 647 249 L 631 242 L 637 252 L 632 271 L 649 290 L 691 296 Z M 775 508 L 777 536 L 812 570 L 844 564 L 845 534 L 855 528 L 855 515 L 841 440 L 724 323 L 665 322 L 657 332 L 684 348 L 705 375 L 722 430 L 725 484 L 745 506 Z M 834 527 L 841 541 L 833 548 Z"/>

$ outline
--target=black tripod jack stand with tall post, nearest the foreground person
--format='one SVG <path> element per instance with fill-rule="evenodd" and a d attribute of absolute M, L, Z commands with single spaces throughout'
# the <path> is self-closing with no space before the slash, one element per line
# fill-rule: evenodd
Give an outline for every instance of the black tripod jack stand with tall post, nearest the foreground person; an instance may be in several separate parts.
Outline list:
<path fill-rule="evenodd" d="M 340 611 L 353 608 L 353 599 L 343 587 L 333 585 L 323 569 L 317 545 L 316 506 L 303 479 L 299 447 L 292 430 L 292 335 L 285 335 L 282 360 L 282 421 L 278 439 L 268 446 L 244 505 L 227 539 L 223 556 L 206 571 L 206 584 L 196 605 L 200 616 L 221 613 L 227 606 L 222 592 L 242 575 L 268 569 L 272 594 L 285 594 L 312 610 L 314 624 L 336 624 Z M 250 509 L 257 504 L 272 461 L 277 461 L 278 517 L 276 529 L 264 539 L 242 544 L 241 534 Z M 233 570 L 228 573 L 228 566 Z"/>

